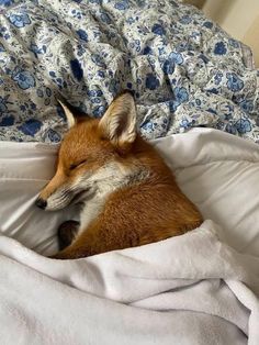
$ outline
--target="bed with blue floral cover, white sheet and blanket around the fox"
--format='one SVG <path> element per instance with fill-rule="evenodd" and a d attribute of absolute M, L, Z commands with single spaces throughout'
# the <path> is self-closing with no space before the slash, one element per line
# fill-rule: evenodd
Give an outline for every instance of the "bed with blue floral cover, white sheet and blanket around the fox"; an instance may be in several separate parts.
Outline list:
<path fill-rule="evenodd" d="M 10 0 L 0 9 L 3 344 L 258 344 L 249 48 L 177 1 Z M 34 205 L 67 129 L 56 98 L 101 116 L 124 88 L 135 92 L 142 135 L 205 221 L 142 247 L 46 258 L 57 226 L 77 216 Z"/>

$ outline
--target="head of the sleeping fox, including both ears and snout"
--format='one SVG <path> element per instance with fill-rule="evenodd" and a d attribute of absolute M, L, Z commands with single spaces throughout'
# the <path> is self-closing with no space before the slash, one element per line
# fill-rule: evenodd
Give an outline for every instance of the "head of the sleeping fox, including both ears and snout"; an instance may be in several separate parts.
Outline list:
<path fill-rule="evenodd" d="M 45 210 L 86 201 L 105 189 L 109 192 L 137 174 L 134 164 L 126 164 L 137 136 L 136 108 L 130 92 L 116 97 L 101 120 L 82 120 L 60 104 L 69 131 L 58 152 L 56 174 L 36 200 Z"/>

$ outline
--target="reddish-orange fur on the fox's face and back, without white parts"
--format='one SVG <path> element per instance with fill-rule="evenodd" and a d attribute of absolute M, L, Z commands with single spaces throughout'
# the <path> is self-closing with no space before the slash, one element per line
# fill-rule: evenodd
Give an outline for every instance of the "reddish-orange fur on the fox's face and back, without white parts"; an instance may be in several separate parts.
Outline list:
<path fill-rule="evenodd" d="M 86 165 L 69 170 L 71 164 L 85 159 L 88 159 Z M 137 163 L 150 174 L 133 186 L 112 192 L 99 215 L 70 246 L 54 257 L 79 258 L 139 246 L 181 235 L 202 223 L 200 212 L 181 192 L 157 151 L 138 135 L 133 144 L 114 147 L 102 137 L 99 120 L 80 122 L 65 136 L 57 174 L 41 198 L 46 199 L 64 181 L 75 179 L 87 169 L 94 170 L 110 159 L 121 162 L 125 169 L 132 169 Z"/>

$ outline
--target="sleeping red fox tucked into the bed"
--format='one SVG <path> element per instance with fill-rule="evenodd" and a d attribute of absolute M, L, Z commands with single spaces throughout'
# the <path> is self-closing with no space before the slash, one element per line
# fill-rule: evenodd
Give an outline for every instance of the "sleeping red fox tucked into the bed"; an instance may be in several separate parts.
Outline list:
<path fill-rule="evenodd" d="M 80 204 L 79 222 L 58 229 L 56 259 L 77 259 L 142 246 L 194 230 L 203 222 L 157 149 L 137 132 L 134 96 L 117 94 L 101 119 L 78 116 L 59 101 L 68 132 L 56 172 L 36 205 Z"/>

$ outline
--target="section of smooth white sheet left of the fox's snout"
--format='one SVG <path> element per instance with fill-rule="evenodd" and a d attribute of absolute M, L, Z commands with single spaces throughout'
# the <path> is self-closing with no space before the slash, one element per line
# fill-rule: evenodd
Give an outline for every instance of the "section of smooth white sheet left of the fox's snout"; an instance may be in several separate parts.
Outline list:
<path fill-rule="evenodd" d="M 0 231 L 37 252 L 56 249 L 57 227 L 75 212 L 42 212 L 34 202 L 54 175 L 57 147 L 11 142 L 0 147 Z"/>

